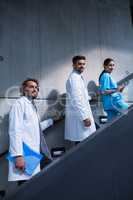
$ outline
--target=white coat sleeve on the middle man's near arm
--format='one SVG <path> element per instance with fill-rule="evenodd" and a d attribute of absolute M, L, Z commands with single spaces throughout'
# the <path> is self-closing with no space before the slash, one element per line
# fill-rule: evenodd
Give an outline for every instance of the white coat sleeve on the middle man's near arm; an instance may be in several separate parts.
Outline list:
<path fill-rule="evenodd" d="M 83 121 L 89 118 L 88 112 L 88 99 L 85 99 L 83 88 L 81 86 L 81 80 L 78 77 L 72 77 L 70 79 L 70 101 L 74 107 L 75 112 L 79 118 Z"/>

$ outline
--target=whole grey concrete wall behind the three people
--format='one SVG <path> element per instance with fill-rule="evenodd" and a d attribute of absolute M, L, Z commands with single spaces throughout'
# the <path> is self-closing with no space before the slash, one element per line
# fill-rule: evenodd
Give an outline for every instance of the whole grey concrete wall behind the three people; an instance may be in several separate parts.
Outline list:
<path fill-rule="evenodd" d="M 38 107 L 45 118 L 47 111 L 58 108 L 74 55 L 88 59 L 87 84 L 97 83 L 106 57 L 116 60 L 114 77 L 119 80 L 125 71 L 132 72 L 132 40 L 129 0 L 1 0 L 0 153 L 7 149 L 8 112 L 14 101 L 9 98 L 19 96 L 25 78 L 39 79 L 43 100 Z M 131 89 L 132 84 L 127 100 L 133 100 Z M 53 137 L 58 138 L 58 132 Z M 63 128 L 60 134 L 63 142 Z M 49 145 L 53 137 L 49 136 Z"/>

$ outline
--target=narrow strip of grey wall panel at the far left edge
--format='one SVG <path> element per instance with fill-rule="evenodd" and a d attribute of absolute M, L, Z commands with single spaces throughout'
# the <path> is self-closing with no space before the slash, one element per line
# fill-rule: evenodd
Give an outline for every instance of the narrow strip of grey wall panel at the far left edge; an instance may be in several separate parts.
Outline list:
<path fill-rule="evenodd" d="M 9 54 L 10 54 L 10 27 L 8 7 L 5 0 L 0 1 L 0 56 L 3 56 L 4 60 L 0 61 L 0 95 L 3 96 L 6 89 L 11 84 L 10 81 L 10 66 L 9 66 Z"/>

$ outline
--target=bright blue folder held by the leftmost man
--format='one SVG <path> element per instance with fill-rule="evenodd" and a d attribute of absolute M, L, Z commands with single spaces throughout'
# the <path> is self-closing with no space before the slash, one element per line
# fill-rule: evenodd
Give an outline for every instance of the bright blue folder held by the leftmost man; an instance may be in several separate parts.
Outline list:
<path fill-rule="evenodd" d="M 31 176 L 39 165 L 43 155 L 35 152 L 27 144 L 23 143 L 23 156 L 25 160 L 25 173 Z M 15 161 L 15 158 L 10 153 L 7 155 L 7 159 L 12 162 Z"/>

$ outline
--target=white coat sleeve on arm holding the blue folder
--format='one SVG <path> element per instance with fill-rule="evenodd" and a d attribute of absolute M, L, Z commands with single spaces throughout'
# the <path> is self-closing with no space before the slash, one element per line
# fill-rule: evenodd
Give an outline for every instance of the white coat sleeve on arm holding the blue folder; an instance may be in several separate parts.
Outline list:
<path fill-rule="evenodd" d="M 16 102 L 9 114 L 9 151 L 11 156 L 23 155 L 23 134 L 22 105 Z"/>

